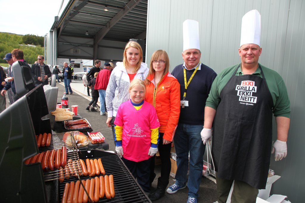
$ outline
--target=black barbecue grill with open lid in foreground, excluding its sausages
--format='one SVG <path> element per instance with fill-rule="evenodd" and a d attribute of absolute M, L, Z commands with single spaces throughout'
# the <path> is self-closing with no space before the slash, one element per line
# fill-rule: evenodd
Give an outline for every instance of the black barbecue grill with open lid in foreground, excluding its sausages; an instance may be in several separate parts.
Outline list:
<path fill-rule="evenodd" d="M 51 145 L 38 149 L 35 135 L 52 133 L 49 119 L 41 120 L 48 113 L 45 92 L 39 85 L 0 114 L 0 173 L 5 184 L 0 202 L 60 202 L 67 181 L 88 179 L 88 176 L 70 176 L 69 180 L 59 183 L 62 170 L 43 172 L 41 163 L 24 163 L 38 152 L 60 149 L 63 145 L 68 149 L 67 159 L 75 161 L 73 169 L 77 174 L 80 171 L 79 158 L 87 157 L 101 158 L 106 174 L 113 174 L 116 195 L 99 202 L 151 202 L 117 154 L 95 149 L 79 151 L 72 133 L 68 133 L 67 142 L 63 142 L 65 133 L 53 134 Z"/>

